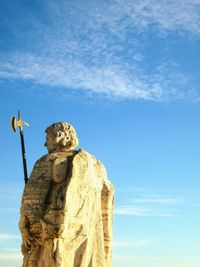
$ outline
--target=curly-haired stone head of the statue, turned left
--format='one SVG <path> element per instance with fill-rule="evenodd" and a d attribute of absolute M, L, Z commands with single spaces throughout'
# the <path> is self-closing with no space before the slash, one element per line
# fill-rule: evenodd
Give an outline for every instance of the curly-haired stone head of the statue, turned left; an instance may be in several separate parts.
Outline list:
<path fill-rule="evenodd" d="M 46 128 L 45 146 L 48 152 L 70 151 L 78 146 L 78 138 L 73 126 L 67 122 L 53 123 Z"/>

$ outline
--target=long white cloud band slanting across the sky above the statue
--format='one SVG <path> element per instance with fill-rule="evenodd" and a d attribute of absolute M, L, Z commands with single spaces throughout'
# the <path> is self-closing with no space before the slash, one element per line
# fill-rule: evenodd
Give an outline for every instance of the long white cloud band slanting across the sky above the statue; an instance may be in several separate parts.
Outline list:
<path fill-rule="evenodd" d="M 30 80 L 68 90 L 84 89 L 116 98 L 165 101 L 185 97 L 172 86 L 177 79 L 164 81 L 162 77 L 139 77 L 137 73 L 130 77 L 130 73 L 120 65 L 87 67 L 78 61 L 65 64 L 64 60 L 49 61 L 24 54 L 18 56 L 20 63 L 13 61 L 11 56 L 10 63 L 0 64 L 0 78 Z M 62 92 L 67 93 L 65 90 Z"/>

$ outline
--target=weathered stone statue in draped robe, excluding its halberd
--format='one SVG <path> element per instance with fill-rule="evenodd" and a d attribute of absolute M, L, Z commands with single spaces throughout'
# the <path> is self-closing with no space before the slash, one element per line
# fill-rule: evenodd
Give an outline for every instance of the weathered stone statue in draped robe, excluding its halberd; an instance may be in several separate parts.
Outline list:
<path fill-rule="evenodd" d="M 65 122 L 46 129 L 48 155 L 25 185 L 19 228 L 23 267 L 109 267 L 114 188 L 102 163 Z"/>

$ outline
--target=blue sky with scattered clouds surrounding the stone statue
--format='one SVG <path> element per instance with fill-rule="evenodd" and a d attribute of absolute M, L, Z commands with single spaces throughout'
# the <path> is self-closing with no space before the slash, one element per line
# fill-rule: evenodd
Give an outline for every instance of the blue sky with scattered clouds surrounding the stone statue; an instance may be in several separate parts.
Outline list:
<path fill-rule="evenodd" d="M 115 185 L 113 267 L 199 267 L 200 1 L 0 2 L 0 266 L 21 266 L 23 171 L 70 122 Z"/>

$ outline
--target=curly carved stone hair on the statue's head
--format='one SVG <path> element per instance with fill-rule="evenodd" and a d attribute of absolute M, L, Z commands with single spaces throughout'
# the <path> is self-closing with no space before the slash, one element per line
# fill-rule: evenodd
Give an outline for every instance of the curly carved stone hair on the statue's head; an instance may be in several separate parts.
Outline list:
<path fill-rule="evenodd" d="M 59 147 L 74 149 L 78 146 L 78 137 L 72 125 L 67 122 L 53 123 L 45 130 L 46 133 L 52 134 L 60 140 Z"/>

